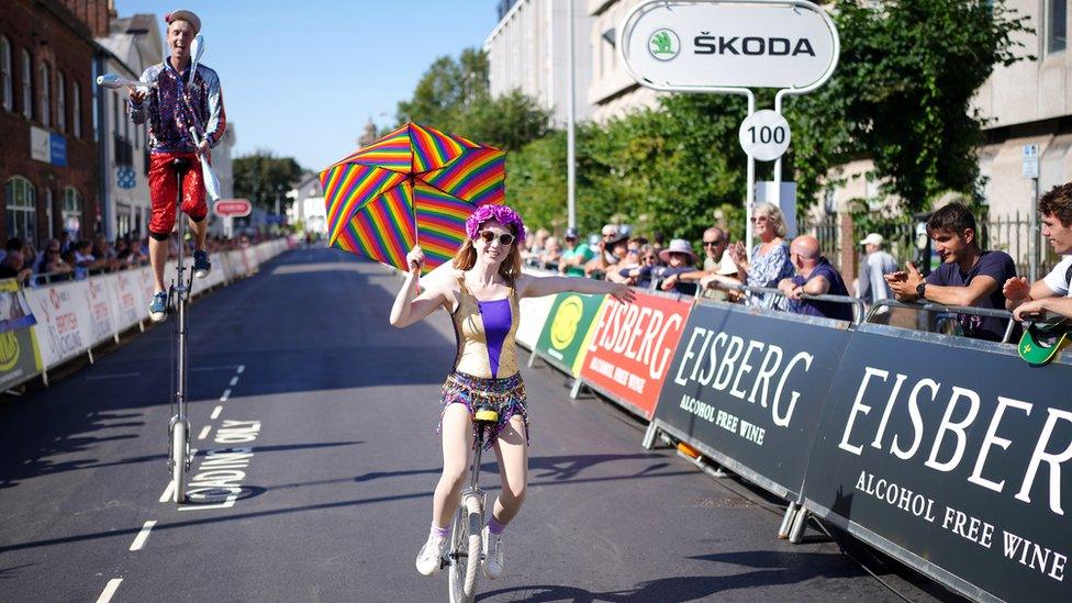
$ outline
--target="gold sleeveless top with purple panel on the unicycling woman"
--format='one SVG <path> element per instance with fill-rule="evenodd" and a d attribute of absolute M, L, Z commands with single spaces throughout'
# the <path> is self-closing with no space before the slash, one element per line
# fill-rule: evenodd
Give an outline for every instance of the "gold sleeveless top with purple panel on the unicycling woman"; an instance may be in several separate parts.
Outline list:
<path fill-rule="evenodd" d="M 466 287 L 464 276 L 458 277 L 458 308 L 450 314 L 458 342 L 454 370 L 480 379 L 513 377 L 517 373 L 517 291 L 509 287 L 506 299 L 480 302 Z"/>

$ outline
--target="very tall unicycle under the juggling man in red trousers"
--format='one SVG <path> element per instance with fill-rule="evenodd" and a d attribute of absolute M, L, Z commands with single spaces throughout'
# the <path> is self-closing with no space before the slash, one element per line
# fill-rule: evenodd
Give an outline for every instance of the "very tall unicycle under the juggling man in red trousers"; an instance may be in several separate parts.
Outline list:
<path fill-rule="evenodd" d="M 182 215 L 182 178 L 190 169 L 188 159 L 175 159 L 175 171 L 178 174 L 179 208 L 176 220 L 179 235 L 179 256 L 176 265 L 176 278 L 168 287 L 167 308 L 174 308 L 176 314 L 175 330 L 172 331 L 174 345 L 171 347 L 174 358 L 171 362 L 171 422 L 169 432 L 168 467 L 171 470 L 172 496 L 175 503 L 186 502 L 186 473 L 190 470 L 190 421 L 187 417 L 187 302 L 190 299 L 190 291 L 193 288 L 193 269 L 190 276 L 186 275 L 186 220 Z"/>

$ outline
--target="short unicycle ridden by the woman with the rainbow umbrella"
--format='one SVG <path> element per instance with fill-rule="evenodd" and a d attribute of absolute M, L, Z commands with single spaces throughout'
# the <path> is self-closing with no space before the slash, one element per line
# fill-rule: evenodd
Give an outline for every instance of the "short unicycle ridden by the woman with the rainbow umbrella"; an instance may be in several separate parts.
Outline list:
<path fill-rule="evenodd" d="M 477 483 L 480 479 L 480 453 L 484 447 L 484 434 L 499 421 L 493 409 L 477 409 L 473 413 L 477 426 L 476 450 L 469 470 L 469 487 L 461 491 L 461 504 L 455 514 L 450 531 L 449 572 L 450 603 L 470 603 L 477 594 L 477 570 L 483 560 L 484 503 L 488 495 Z"/>

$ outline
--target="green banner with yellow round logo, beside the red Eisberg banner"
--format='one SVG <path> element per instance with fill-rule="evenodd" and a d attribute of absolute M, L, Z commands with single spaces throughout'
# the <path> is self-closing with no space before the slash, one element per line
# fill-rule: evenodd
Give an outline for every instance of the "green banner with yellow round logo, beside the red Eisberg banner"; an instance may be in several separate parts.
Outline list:
<path fill-rule="evenodd" d="M 604 298 L 559 293 L 547 314 L 534 351 L 558 369 L 577 377 Z"/>

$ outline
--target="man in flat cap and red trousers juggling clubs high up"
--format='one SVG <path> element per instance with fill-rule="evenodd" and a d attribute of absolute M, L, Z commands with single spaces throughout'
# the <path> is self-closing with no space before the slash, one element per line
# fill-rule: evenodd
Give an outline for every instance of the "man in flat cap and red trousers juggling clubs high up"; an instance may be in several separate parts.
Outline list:
<path fill-rule="evenodd" d="M 167 45 L 170 55 L 142 74 L 141 81 L 153 85 L 130 91 L 130 114 L 136 124 L 148 123 L 149 196 L 153 216 L 149 220 L 149 263 L 153 265 L 154 293 L 149 317 L 163 321 L 167 314 L 167 290 L 164 286 L 164 265 L 168 258 L 168 238 L 175 227 L 176 199 L 189 216 L 193 232 L 193 273 L 204 278 L 212 269 L 205 250 L 209 208 L 205 203 L 204 180 L 197 169 L 200 155 L 220 143 L 226 129 L 220 77 L 204 65 L 194 65 L 191 46 L 201 31 L 201 20 L 191 11 L 179 10 L 164 16 L 167 22 Z M 191 72 L 192 71 L 192 72 Z M 190 136 L 198 133 L 200 144 Z M 179 179 L 176 159 L 191 166 Z M 180 245 L 183 242 L 179 242 Z"/>

